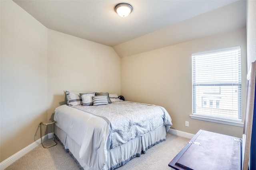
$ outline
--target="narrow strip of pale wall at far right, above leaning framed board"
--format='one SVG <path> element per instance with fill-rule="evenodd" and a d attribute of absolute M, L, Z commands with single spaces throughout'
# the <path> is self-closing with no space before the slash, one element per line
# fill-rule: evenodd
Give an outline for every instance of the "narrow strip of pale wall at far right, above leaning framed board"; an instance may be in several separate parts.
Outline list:
<path fill-rule="evenodd" d="M 247 0 L 247 63 L 248 70 L 251 63 L 256 61 L 256 0 Z"/>

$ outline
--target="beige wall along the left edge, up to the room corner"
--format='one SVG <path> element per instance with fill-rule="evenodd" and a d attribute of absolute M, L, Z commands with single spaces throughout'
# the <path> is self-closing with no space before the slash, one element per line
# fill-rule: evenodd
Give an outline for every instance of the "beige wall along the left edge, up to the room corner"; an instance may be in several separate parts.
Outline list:
<path fill-rule="evenodd" d="M 2 162 L 39 139 L 47 120 L 47 28 L 13 1 L 0 3 Z"/>

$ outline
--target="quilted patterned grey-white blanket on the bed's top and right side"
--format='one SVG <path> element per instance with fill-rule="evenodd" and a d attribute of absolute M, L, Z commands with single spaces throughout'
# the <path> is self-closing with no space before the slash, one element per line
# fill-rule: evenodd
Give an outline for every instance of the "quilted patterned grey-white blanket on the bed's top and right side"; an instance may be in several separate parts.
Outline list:
<path fill-rule="evenodd" d="M 104 106 L 72 107 L 102 117 L 110 125 L 109 149 L 154 131 L 162 125 L 166 125 L 168 131 L 172 125 L 168 112 L 156 105 L 120 101 Z"/>

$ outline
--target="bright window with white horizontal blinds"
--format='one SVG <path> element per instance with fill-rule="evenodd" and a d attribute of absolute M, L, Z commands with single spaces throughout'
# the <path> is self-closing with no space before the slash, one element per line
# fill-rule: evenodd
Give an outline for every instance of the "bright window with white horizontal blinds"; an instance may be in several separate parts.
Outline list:
<path fill-rule="evenodd" d="M 192 55 L 193 115 L 241 122 L 241 49 Z"/>

